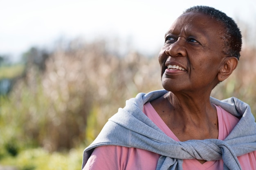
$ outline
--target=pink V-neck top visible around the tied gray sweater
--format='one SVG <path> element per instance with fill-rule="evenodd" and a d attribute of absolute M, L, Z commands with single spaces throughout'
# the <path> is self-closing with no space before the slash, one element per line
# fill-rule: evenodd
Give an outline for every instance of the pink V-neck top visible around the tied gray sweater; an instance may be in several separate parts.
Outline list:
<path fill-rule="evenodd" d="M 216 106 L 218 114 L 218 139 L 225 139 L 239 121 L 221 107 Z M 150 102 L 144 105 L 143 112 L 166 135 L 176 141 L 179 139 L 164 123 Z M 138 148 L 122 146 L 100 146 L 94 149 L 83 170 L 155 170 L 160 155 Z M 243 170 L 256 170 L 256 151 L 238 157 Z M 184 170 L 223 170 L 223 161 L 207 161 L 201 164 L 196 159 L 184 159 Z"/>

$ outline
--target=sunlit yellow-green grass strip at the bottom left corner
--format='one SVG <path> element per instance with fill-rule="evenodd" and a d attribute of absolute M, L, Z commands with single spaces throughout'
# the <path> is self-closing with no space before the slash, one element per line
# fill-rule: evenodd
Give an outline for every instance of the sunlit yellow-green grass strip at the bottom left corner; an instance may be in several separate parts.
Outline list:
<path fill-rule="evenodd" d="M 65 153 L 49 153 L 43 148 L 26 149 L 16 157 L 3 157 L 0 164 L 13 166 L 18 170 L 79 170 L 82 166 L 83 149 L 84 147 L 73 148 Z"/>

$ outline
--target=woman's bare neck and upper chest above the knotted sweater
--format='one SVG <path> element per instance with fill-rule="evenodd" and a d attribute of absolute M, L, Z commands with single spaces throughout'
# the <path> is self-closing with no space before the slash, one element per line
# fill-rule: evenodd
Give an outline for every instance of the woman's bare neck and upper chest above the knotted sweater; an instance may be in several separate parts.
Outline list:
<path fill-rule="evenodd" d="M 218 138 L 218 116 L 210 97 L 195 98 L 169 92 L 163 100 L 171 114 L 160 116 L 181 141 Z"/>

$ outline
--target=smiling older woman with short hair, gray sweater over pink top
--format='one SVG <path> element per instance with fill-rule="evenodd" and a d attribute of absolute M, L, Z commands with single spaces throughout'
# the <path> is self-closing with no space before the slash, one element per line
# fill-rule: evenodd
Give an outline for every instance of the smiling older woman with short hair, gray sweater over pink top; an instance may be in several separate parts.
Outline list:
<path fill-rule="evenodd" d="M 214 8 L 187 9 L 159 53 L 165 90 L 127 100 L 83 155 L 83 170 L 256 170 L 250 107 L 212 89 L 236 68 L 241 33 Z"/>

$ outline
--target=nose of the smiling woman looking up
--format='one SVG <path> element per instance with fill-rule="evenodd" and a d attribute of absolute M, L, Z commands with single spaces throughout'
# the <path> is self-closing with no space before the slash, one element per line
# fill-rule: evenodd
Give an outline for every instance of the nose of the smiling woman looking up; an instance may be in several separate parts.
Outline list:
<path fill-rule="evenodd" d="M 175 41 L 174 43 L 170 44 L 165 50 L 165 53 L 171 57 L 184 57 L 186 56 L 185 50 L 185 43 L 181 37 Z"/>

